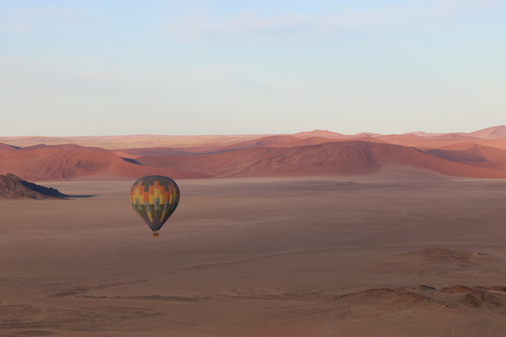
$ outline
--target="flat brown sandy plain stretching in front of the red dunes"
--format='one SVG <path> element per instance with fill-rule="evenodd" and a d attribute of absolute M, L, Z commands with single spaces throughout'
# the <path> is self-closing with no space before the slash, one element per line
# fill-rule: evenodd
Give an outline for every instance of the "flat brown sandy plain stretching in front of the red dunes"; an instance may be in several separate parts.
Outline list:
<path fill-rule="evenodd" d="M 179 180 L 158 238 L 130 181 L 45 183 L 0 202 L 0 335 L 506 336 L 506 293 L 441 291 L 506 285 L 506 181 L 443 178 Z"/>

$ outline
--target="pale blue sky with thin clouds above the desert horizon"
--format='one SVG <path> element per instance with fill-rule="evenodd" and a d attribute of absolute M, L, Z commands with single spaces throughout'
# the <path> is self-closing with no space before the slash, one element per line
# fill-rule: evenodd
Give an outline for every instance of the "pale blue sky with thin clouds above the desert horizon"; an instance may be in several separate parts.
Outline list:
<path fill-rule="evenodd" d="M 506 124 L 506 1 L 0 1 L 0 136 Z"/>

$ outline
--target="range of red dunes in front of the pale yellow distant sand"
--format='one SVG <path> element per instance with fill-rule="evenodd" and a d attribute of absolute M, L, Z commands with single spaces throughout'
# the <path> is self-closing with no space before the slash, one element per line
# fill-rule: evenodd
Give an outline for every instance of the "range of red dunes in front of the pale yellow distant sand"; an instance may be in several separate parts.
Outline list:
<path fill-rule="evenodd" d="M 111 152 L 73 144 L 38 145 L 0 152 L 0 173 L 12 172 L 27 180 L 98 179 L 99 175 L 100 179 L 118 179 L 150 174 L 175 178 L 364 175 L 389 165 L 400 165 L 448 176 L 506 178 L 506 151 L 492 147 L 460 143 L 419 151 L 376 137 L 328 140 L 325 137 L 268 136 L 237 145 L 249 149 L 223 147 L 216 154 L 187 153 L 163 147 Z M 170 155 L 165 155 L 167 152 Z"/>

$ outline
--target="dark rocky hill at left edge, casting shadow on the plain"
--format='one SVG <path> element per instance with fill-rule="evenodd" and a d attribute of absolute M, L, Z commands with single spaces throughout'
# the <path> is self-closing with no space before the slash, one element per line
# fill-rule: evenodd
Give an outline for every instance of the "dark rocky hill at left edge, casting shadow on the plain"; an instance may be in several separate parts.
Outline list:
<path fill-rule="evenodd" d="M 0 198 L 65 199 L 58 189 L 23 180 L 12 173 L 0 174 Z"/>

